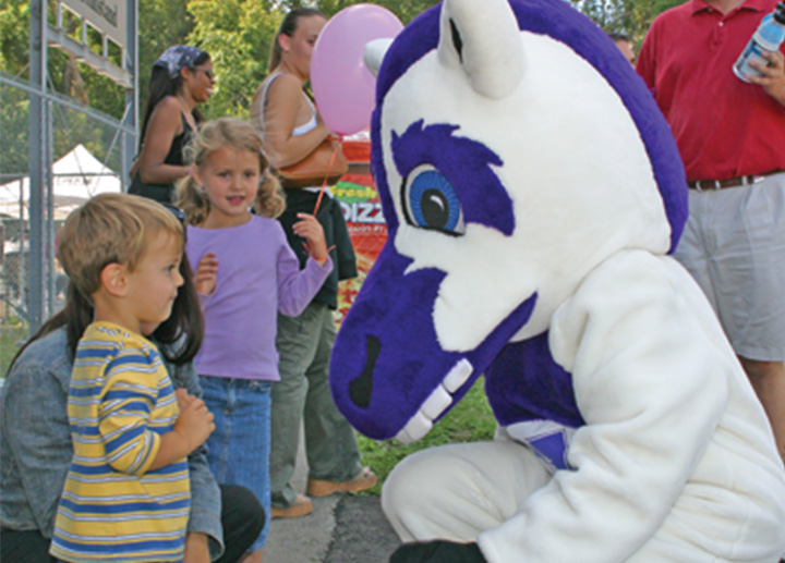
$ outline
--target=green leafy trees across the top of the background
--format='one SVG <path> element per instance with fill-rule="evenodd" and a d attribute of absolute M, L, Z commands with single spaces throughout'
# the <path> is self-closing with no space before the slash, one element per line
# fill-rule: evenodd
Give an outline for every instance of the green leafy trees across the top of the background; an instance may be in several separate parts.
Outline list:
<path fill-rule="evenodd" d="M 53 0 L 49 0 L 53 2 Z M 216 70 L 213 98 L 203 108 L 207 118 L 246 115 L 256 86 L 267 74 L 267 59 L 283 13 L 298 5 L 317 5 L 328 17 L 364 0 L 140 0 L 138 79 L 140 102 L 147 98 L 153 63 L 172 45 L 190 44 L 210 53 Z M 652 20 L 683 0 L 568 0 L 608 32 L 623 30 L 640 44 Z M 375 0 L 406 25 L 437 0 Z M 50 16 L 53 12 L 49 10 Z M 74 33 L 78 21 L 74 20 Z M 0 69 L 26 77 L 28 63 L 29 0 L 0 0 Z M 93 40 L 95 44 L 95 40 Z M 114 118 L 124 109 L 124 90 L 84 63 L 51 48 L 48 51 L 51 87 L 81 99 Z M 26 96 L 3 88 L 0 101 L 0 170 L 16 170 L 26 162 Z M 56 128 L 65 120 L 55 115 Z M 112 132 L 89 125 L 89 120 L 70 118 L 74 127 L 68 138 L 58 133 L 59 150 L 70 149 L 69 139 L 111 144 Z M 64 126 L 64 125 L 62 125 Z M 9 133 L 11 133 L 9 135 Z M 108 136 L 108 140 L 107 140 Z M 10 168 L 9 168 L 10 167 Z M 26 168 L 26 167 L 25 167 Z"/>

